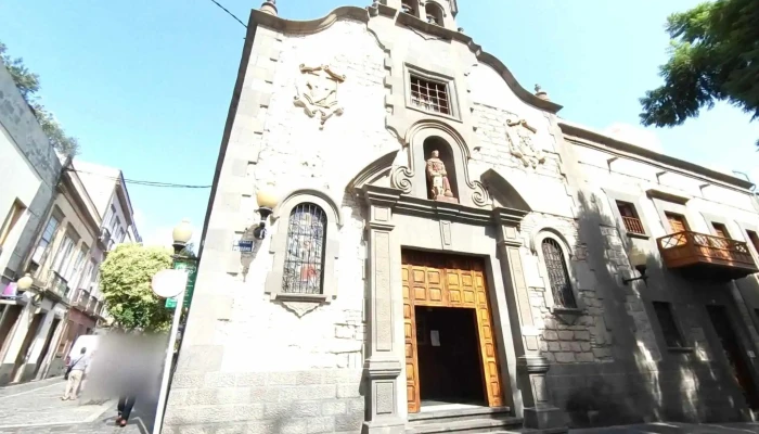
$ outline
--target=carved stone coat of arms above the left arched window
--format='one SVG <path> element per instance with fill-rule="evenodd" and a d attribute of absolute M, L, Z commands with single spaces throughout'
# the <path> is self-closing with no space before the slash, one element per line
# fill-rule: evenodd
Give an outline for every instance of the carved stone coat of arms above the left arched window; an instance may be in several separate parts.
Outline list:
<path fill-rule="evenodd" d="M 333 115 L 342 115 L 344 110 L 337 101 L 337 88 L 346 77 L 335 73 L 330 65 L 316 67 L 300 65 L 301 77 L 297 80 L 294 103 L 304 107 L 310 117 L 321 114 L 319 129 Z"/>

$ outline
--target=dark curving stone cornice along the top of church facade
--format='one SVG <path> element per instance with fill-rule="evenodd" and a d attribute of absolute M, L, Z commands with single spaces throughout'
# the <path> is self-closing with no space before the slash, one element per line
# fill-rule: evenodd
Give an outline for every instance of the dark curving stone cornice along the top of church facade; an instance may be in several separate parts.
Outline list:
<path fill-rule="evenodd" d="M 522 101 L 530 104 L 540 110 L 544 110 L 550 113 L 558 113 L 562 110 L 562 105 L 555 102 L 542 100 L 535 95 L 532 92 L 523 88 L 514 77 L 511 71 L 494 55 L 487 53 L 483 50 L 483 47 L 475 43 L 472 37 L 464 35 L 461 31 L 454 31 L 441 26 L 436 26 L 426 23 L 415 16 L 411 16 L 404 13 L 398 13 L 394 8 L 377 4 L 376 7 L 370 7 L 366 9 L 358 7 L 340 7 L 329 13 L 326 16 L 310 20 L 310 21 L 292 21 L 285 20 L 280 16 L 271 15 L 266 12 L 261 12 L 257 9 L 250 11 L 250 20 L 248 27 L 255 27 L 253 24 L 262 25 L 271 29 L 282 31 L 285 34 L 313 34 L 329 28 L 339 20 L 356 20 L 363 23 L 369 23 L 371 16 L 382 15 L 382 16 L 397 16 L 397 23 L 403 24 L 410 29 L 416 29 L 425 34 L 437 36 L 442 39 L 455 40 L 468 47 L 468 49 L 475 54 L 478 61 L 487 64 L 488 66 L 496 69 L 496 72 L 503 78 L 509 88 Z M 254 33 L 255 34 L 255 33 Z M 249 35 L 249 33 L 248 33 Z"/>

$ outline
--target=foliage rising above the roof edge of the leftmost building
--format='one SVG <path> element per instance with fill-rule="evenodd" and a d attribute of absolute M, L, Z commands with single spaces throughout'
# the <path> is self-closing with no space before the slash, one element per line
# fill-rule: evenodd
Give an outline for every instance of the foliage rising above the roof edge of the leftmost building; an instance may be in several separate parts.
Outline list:
<path fill-rule="evenodd" d="M 11 58 L 7 53 L 8 47 L 0 42 L 0 59 L 5 64 L 5 68 L 11 73 L 13 81 L 24 97 L 24 101 L 29 105 L 31 112 L 37 116 L 37 122 L 42 127 L 42 131 L 48 136 L 50 144 L 60 153 L 75 156 L 79 152 L 79 142 L 76 138 L 69 137 L 55 120 L 55 116 L 40 103 L 37 92 L 39 92 L 39 76 L 31 73 L 22 58 Z"/>

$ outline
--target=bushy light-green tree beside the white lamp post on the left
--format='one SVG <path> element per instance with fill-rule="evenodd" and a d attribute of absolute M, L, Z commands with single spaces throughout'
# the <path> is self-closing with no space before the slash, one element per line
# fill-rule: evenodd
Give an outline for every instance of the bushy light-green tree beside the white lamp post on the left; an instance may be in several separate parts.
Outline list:
<path fill-rule="evenodd" d="M 171 311 L 153 294 L 151 282 L 171 268 L 171 253 L 163 247 L 119 244 L 100 266 L 100 288 L 114 324 L 124 330 L 165 331 Z"/>

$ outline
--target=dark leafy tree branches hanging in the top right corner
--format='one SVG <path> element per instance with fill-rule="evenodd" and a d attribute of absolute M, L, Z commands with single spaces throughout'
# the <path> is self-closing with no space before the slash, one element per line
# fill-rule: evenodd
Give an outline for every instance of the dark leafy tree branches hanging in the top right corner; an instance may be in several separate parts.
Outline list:
<path fill-rule="evenodd" d="M 759 118 L 759 1 L 717 0 L 669 16 L 665 84 L 641 99 L 643 125 L 671 127 L 726 101 Z M 759 140 L 757 140 L 759 145 Z"/>

